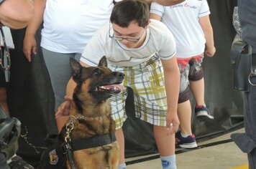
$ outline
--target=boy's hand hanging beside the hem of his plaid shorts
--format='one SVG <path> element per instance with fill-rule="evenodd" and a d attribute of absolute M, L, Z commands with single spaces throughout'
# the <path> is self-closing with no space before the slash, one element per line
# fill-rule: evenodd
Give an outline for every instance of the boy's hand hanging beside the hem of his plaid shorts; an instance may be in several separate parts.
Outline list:
<path fill-rule="evenodd" d="M 168 135 L 172 135 L 178 131 L 178 126 L 180 125 L 180 120 L 178 120 L 177 113 L 168 112 L 166 115 L 166 127 L 170 132 Z"/>

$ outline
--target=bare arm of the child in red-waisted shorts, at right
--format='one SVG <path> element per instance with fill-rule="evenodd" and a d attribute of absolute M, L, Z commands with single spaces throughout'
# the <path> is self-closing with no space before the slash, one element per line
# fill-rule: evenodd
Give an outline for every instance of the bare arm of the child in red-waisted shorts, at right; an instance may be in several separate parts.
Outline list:
<path fill-rule="evenodd" d="M 211 21 L 209 15 L 199 18 L 199 23 L 204 31 L 204 37 L 206 38 L 206 56 L 213 57 L 216 49 L 214 47 L 214 32 L 211 27 Z"/>

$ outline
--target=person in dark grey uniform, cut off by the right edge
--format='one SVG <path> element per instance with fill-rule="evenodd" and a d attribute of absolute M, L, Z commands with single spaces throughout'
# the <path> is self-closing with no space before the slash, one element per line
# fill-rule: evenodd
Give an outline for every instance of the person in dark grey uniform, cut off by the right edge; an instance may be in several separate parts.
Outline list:
<path fill-rule="evenodd" d="M 256 1 L 238 0 L 237 11 L 240 24 L 239 37 L 252 47 L 252 67 L 249 76 L 249 90 L 244 91 L 244 129 L 231 137 L 239 148 L 247 153 L 249 168 L 256 168 Z M 238 36 L 238 35 L 237 35 Z M 242 51 L 246 51 L 242 50 Z"/>

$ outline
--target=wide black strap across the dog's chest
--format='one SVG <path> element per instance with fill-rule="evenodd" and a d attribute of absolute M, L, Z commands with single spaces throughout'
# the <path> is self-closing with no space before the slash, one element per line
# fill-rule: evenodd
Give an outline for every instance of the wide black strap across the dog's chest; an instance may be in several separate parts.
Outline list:
<path fill-rule="evenodd" d="M 72 140 L 72 149 L 73 151 L 76 150 L 83 150 L 87 148 L 96 148 L 102 145 L 108 145 L 113 143 L 116 140 L 114 132 L 111 132 L 106 135 L 95 135 L 89 138 L 79 138 L 76 140 Z"/>

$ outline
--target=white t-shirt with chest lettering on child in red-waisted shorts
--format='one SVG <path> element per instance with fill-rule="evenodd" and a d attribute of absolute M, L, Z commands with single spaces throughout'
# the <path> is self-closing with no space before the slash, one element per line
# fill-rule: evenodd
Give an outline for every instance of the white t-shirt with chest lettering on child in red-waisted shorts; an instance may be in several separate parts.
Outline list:
<path fill-rule="evenodd" d="M 204 53 L 206 39 L 199 18 L 210 14 L 206 0 L 186 0 L 174 6 L 152 3 L 150 13 L 162 16 L 177 44 L 177 57 L 187 58 Z"/>

